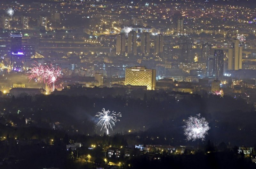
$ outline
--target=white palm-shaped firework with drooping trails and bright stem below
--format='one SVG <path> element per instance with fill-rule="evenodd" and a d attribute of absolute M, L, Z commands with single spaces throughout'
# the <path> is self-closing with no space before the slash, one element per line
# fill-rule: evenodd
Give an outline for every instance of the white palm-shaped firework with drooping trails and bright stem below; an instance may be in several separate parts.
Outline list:
<path fill-rule="evenodd" d="M 116 113 L 116 112 L 110 112 L 109 110 L 105 111 L 105 108 L 101 110 L 101 112 L 98 112 L 95 117 L 99 118 L 99 122 L 96 124 L 96 127 L 100 126 L 101 129 L 107 130 L 108 135 L 108 129 L 113 130 L 113 127 L 116 125 L 117 121 L 120 121 L 117 119 L 117 117 L 122 117 L 122 114 Z"/>

